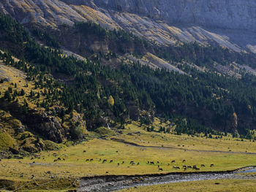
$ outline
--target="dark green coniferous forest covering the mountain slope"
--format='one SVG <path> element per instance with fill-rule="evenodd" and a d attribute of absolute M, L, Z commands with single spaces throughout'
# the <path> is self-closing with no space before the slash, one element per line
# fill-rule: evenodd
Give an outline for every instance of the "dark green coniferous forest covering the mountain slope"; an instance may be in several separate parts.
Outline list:
<path fill-rule="evenodd" d="M 189 66 L 183 66 L 185 74 L 178 74 L 139 62 L 102 65 L 100 58 L 106 55 L 100 53 L 95 53 L 97 58 L 86 57 L 81 61 L 62 53 L 56 37 L 46 31 L 34 29 L 32 34 L 48 47 L 39 45 L 24 26 L 8 16 L 0 15 L 0 25 L 1 49 L 5 51 L 1 58 L 26 72 L 28 80 L 37 80 L 37 87 L 48 88 L 44 93 L 47 99 L 38 106 L 49 109 L 59 103 L 65 109 L 56 114 L 60 118 L 75 110 L 83 114 L 87 129 L 93 131 L 106 122 L 124 123 L 128 119 L 150 124 L 155 115 L 176 122 L 178 134 L 238 131 L 252 139 L 249 130 L 256 126 L 256 77 L 252 74 L 244 72 L 238 79 Z M 137 47 L 132 50 L 133 55 L 140 57 L 151 51 L 173 64 L 187 61 L 207 66 L 218 62 L 225 66 L 237 62 L 255 67 L 256 56 L 251 53 L 234 53 L 197 43 L 157 47 L 133 34 L 108 31 L 94 23 L 76 23 L 74 28 L 85 37 L 94 35 L 112 42 L 114 48 L 109 58 Z M 11 55 L 20 61 L 15 62 Z M 50 78 L 43 80 L 44 74 Z M 12 101 L 9 92 L 4 93 L 4 99 Z M 142 111 L 147 115 L 141 115 Z"/>

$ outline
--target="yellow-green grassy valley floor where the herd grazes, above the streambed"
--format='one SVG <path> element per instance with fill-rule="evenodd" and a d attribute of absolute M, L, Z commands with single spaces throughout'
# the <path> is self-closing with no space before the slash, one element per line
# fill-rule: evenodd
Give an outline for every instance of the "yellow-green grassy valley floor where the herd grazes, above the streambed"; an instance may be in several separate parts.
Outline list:
<path fill-rule="evenodd" d="M 125 126 L 122 134 L 118 134 L 118 130 L 108 129 L 105 132 L 104 139 L 96 139 L 97 135 L 90 134 L 90 137 L 95 139 L 79 145 L 42 151 L 23 159 L 2 159 L 1 188 L 68 191 L 78 186 L 80 177 L 94 175 L 195 172 L 193 169 L 184 171 L 183 165 L 200 167 L 196 172 L 216 172 L 256 165 L 256 154 L 254 154 L 256 144 L 249 140 L 241 142 L 230 137 L 206 139 L 160 134 L 144 131 L 143 127 L 135 122 Z M 152 147 L 140 147 L 122 142 Z M 106 161 L 103 163 L 103 160 Z M 130 164 L 130 161 L 134 161 L 135 164 Z M 154 161 L 154 165 L 148 164 L 148 161 Z M 175 162 L 171 163 L 171 161 Z M 201 164 L 205 167 L 201 167 Z M 211 164 L 214 166 L 211 167 Z M 162 168 L 161 172 L 158 166 Z M 179 166 L 181 169 L 173 169 L 173 166 Z"/>

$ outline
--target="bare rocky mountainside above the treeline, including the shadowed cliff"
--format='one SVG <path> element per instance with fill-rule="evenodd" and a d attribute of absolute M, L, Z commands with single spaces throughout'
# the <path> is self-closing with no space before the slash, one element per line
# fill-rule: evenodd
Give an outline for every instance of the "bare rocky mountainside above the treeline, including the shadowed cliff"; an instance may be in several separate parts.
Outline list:
<path fill-rule="evenodd" d="M 25 24 L 92 20 L 160 45 L 197 41 L 256 52 L 253 0 L 1 0 L 0 9 Z"/>

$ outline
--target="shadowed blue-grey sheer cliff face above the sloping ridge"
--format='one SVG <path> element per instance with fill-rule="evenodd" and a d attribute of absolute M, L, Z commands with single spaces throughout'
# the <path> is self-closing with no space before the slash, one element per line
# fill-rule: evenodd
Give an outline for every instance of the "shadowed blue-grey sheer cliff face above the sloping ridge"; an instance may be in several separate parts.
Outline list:
<path fill-rule="evenodd" d="M 256 31 L 254 0 L 94 0 L 94 3 L 97 7 L 144 15 L 174 25 L 185 23 Z"/>

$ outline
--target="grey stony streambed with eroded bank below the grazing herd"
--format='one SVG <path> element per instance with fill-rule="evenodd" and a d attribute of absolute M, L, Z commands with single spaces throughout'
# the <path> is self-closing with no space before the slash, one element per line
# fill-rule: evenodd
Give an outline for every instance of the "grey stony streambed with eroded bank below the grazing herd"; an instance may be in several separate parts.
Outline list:
<path fill-rule="evenodd" d="M 178 183 L 198 180 L 219 179 L 255 179 L 255 177 L 239 174 L 254 172 L 255 167 L 246 167 L 228 172 L 187 172 L 170 174 L 145 174 L 145 175 L 105 175 L 96 177 L 83 177 L 80 180 L 78 191 L 118 191 L 124 188 L 137 186 L 158 185 L 165 183 Z"/>

